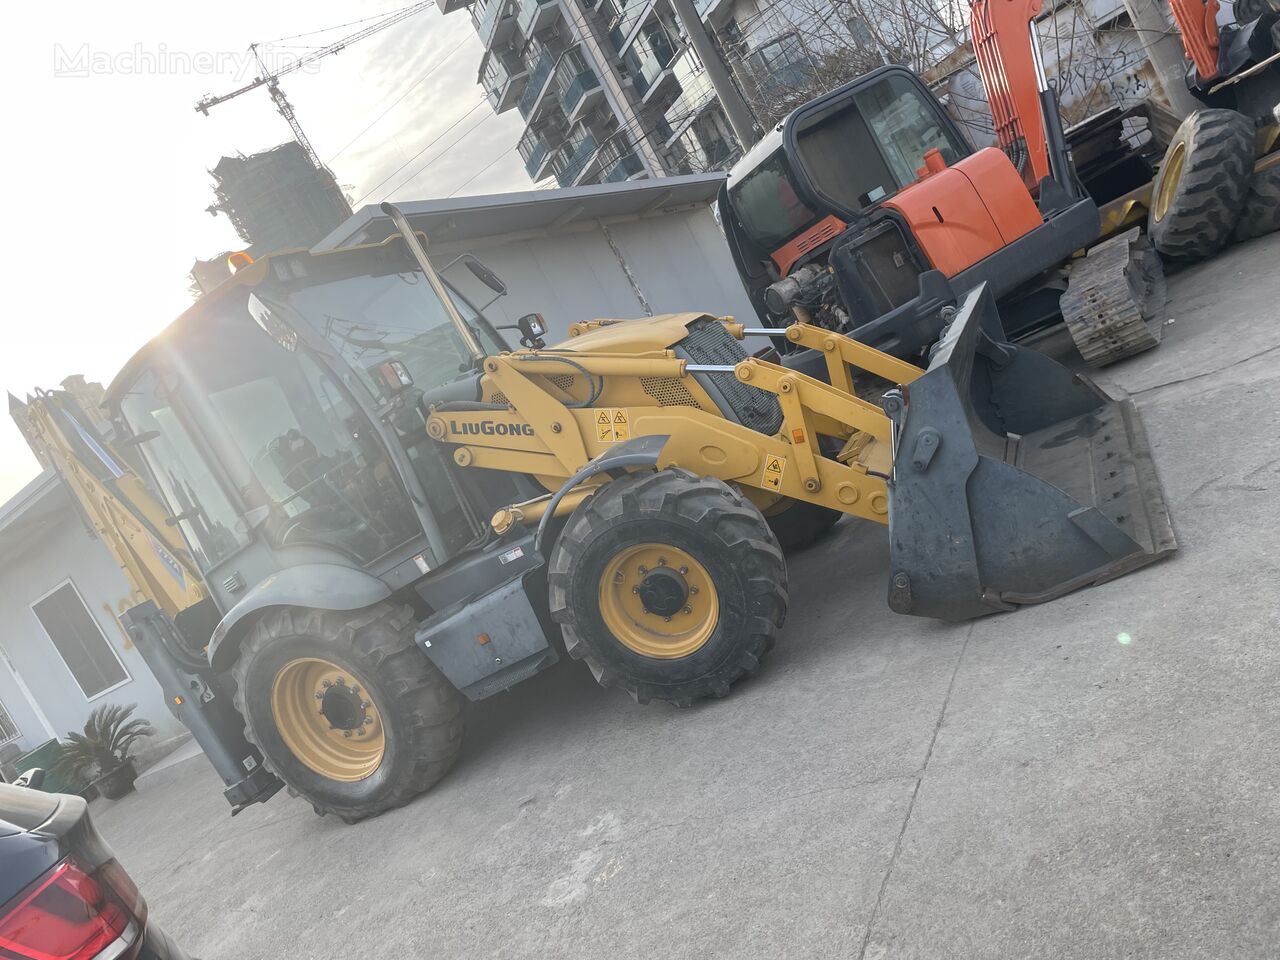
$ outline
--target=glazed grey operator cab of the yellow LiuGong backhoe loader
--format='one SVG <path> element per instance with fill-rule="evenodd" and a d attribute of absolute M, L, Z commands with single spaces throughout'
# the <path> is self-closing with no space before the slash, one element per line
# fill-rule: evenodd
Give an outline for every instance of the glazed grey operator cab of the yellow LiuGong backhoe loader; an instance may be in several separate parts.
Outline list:
<path fill-rule="evenodd" d="M 485 352 L 507 349 L 454 302 Z M 463 488 L 425 431 L 422 397 L 440 390 L 477 394 L 479 372 L 394 239 L 260 260 L 129 361 L 109 402 L 227 609 L 305 562 L 396 589 L 485 535 L 517 481 Z"/>

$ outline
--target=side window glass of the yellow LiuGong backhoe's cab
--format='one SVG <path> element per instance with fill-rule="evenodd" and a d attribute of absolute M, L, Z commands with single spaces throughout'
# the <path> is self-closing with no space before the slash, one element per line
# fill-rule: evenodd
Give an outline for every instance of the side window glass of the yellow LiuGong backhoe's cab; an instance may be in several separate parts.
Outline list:
<path fill-rule="evenodd" d="M 265 329 L 247 292 L 174 338 L 120 410 L 205 570 L 246 544 L 250 526 L 276 547 L 325 547 L 358 563 L 420 531 L 346 385 L 287 328 Z"/>

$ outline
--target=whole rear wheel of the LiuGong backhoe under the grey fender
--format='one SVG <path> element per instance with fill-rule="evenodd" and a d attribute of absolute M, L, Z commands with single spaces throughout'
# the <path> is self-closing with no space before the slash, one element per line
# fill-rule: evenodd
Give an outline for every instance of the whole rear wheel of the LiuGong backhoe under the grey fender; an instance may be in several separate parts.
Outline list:
<path fill-rule="evenodd" d="M 403 806 L 462 749 L 462 695 L 413 643 L 412 611 L 283 608 L 233 667 L 246 736 L 294 796 L 347 823 Z"/>

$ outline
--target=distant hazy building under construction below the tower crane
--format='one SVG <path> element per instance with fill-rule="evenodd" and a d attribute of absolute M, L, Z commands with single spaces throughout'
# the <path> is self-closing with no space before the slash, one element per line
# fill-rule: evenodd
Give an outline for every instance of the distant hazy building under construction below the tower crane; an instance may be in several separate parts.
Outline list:
<path fill-rule="evenodd" d="M 351 216 L 333 173 L 289 141 L 250 156 L 224 156 L 210 173 L 218 201 L 246 244 L 268 252 L 310 247 Z"/>

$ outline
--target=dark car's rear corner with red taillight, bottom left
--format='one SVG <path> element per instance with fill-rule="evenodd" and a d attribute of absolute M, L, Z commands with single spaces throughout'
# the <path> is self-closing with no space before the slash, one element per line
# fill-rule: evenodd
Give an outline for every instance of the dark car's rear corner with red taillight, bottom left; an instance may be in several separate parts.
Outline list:
<path fill-rule="evenodd" d="M 0 783 L 0 960 L 188 960 L 78 796 Z"/>

